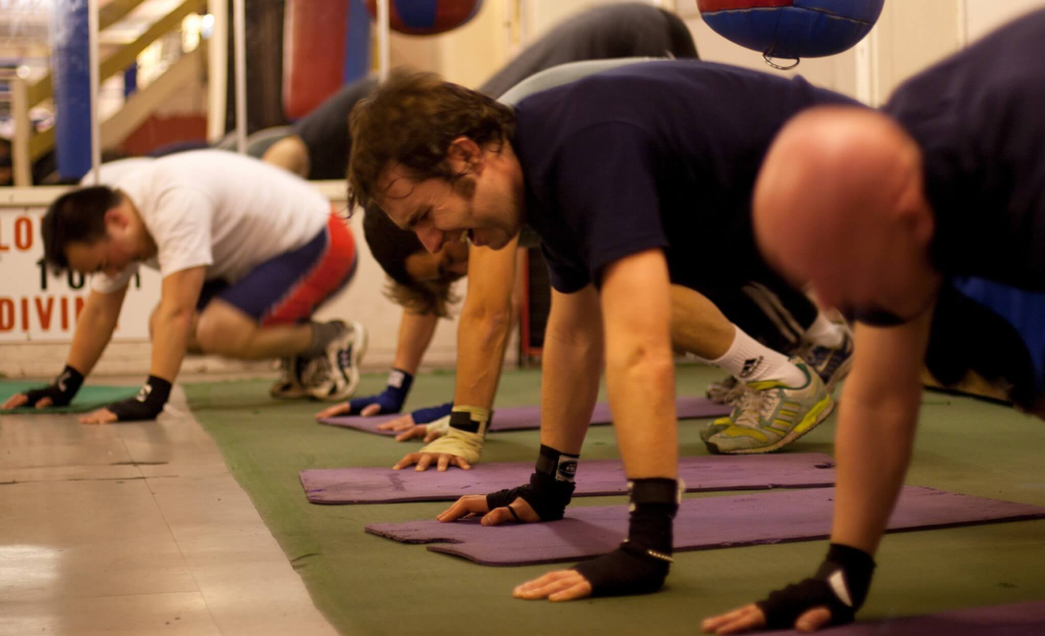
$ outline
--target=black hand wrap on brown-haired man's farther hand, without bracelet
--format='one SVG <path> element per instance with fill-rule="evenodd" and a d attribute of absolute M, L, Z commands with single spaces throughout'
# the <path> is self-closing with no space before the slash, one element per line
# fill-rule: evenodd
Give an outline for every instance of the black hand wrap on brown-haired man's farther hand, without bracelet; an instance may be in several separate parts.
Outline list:
<path fill-rule="evenodd" d="M 561 519 L 570 499 L 574 496 L 574 475 L 577 474 L 578 457 L 579 455 L 559 452 L 551 446 L 541 444 L 537 467 L 530 475 L 530 484 L 490 493 L 486 495 L 486 505 L 491 511 L 495 508 L 507 508 L 512 516 L 515 516 L 515 511 L 510 504 L 515 499 L 522 499 L 537 513 L 541 521 Z"/>

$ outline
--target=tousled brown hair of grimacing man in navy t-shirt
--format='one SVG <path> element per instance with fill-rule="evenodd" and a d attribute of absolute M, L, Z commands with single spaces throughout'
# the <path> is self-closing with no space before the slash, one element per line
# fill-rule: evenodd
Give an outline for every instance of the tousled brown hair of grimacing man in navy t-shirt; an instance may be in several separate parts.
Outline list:
<path fill-rule="evenodd" d="M 446 162 L 450 142 L 458 137 L 479 146 L 511 141 L 515 113 L 435 73 L 396 69 L 371 97 L 355 104 L 349 127 L 349 205 L 366 208 L 377 203 L 377 180 L 391 162 L 417 181 L 455 182 L 461 175 Z"/>

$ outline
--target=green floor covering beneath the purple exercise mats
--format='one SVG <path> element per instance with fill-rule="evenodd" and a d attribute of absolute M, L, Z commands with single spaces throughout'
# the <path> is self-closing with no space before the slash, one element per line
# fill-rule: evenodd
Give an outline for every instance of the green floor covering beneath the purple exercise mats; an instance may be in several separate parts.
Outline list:
<path fill-rule="evenodd" d="M 682 367 L 683 395 L 703 395 L 721 375 Z M 196 419 L 213 437 L 233 475 L 301 574 L 316 605 L 343 634 L 687 634 L 701 618 L 763 596 L 809 575 L 826 542 L 686 552 L 657 594 L 574 603 L 522 602 L 512 587 L 551 566 L 491 568 L 364 533 L 368 523 L 434 517 L 445 503 L 316 505 L 305 500 L 298 471 L 391 466 L 419 443 L 396 443 L 315 423 L 324 405 L 268 397 L 271 380 L 186 386 Z M 385 375 L 364 378 L 358 395 L 379 392 Z M 446 401 L 451 374 L 425 374 L 409 407 Z M 540 374 L 505 373 L 498 405 L 537 403 Z M 683 455 L 706 454 L 695 423 L 679 425 Z M 794 445 L 831 452 L 834 416 Z M 536 458 L 537 431 L 491 437 L 484 461 Z M 915 463 L 907 482 L 1045 505 L 1045 423 L 970 398 L 926 394 Z M 593 427 L 581 455 L 617 457 L 611 427 Z M 719 496 L 715 493 L 709 496 Z M 575 505 L 623 503 L 585 497 Z M 490 528 L 496 532 L 496 528 Z M 875 588 L 862 615 L 884 617 L 1045 597 L 1045 521 L 905 533 L 886 538 Z M 511 546 L 505 546 L 511 549 Z"/>

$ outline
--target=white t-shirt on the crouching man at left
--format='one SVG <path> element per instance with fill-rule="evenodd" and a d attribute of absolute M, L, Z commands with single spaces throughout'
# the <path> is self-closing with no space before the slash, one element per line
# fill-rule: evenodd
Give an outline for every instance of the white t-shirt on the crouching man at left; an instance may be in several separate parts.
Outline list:
<path fill-rule="evenodd" d="M 156 241 L 144 262 L 167 277 L 204 265 L 206 280 L 237 281 L 262 262 L 296 250 L 326 227 L 330 203 L 308 182 L 228 150 L 190 150 L 117 172 L 102 183 L 125 194 Z M 91 287 L 121 289 L 138 270 L 95 274 Z"/>

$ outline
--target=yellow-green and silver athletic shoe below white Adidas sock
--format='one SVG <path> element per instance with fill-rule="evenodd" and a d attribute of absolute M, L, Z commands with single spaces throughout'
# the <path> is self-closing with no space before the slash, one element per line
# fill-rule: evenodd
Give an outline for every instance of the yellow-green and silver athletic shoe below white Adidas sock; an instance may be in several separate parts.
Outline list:
<path fill-rule="evenodd" d="M 734 410 L 740 414 L 733 423 L 719 427 L 716 420 L 709 426 L 716 430 L 704 440 L 707 450 L 723 454 L 773 452 L 813 430 L 831 415 L 834 402 L 820 377 L 798 357 L 791 358 L 791 363 L 805 374 L 806 383 L 787 386 L 776 380 L 749 382 L 741 404 Z"/>

